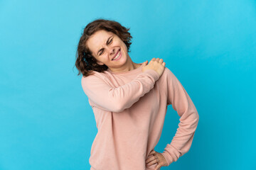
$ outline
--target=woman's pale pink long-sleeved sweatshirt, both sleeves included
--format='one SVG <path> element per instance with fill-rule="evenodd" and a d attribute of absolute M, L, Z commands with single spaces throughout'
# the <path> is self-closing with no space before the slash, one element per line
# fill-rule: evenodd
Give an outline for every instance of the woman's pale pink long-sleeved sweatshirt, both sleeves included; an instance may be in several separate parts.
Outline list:
<path fill-rule="evenodd" d="M 141 63 L 142 64 L 142 63 Z M 164 155 L 168 165 L 188 152 L 198 125 L 198 112 L 174 74 L 159 74 L 142 66 L 127 72 L 95 72 L 82 77 L 97 125 L 90 152 L 91 170 L 149 170 L 149 152 L 159 142 L 167 106 L 181 117 Z M 156 151 L 157 152 L 157 151 Z"/>

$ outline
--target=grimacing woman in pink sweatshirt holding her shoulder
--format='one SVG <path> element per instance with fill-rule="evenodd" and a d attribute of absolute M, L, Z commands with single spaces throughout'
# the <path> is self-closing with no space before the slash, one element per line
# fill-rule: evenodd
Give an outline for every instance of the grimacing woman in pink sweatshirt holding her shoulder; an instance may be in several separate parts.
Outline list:
<path fill-rule="evenodd" d="M 198 125 L 196 107 L 162 59 L 132 62 L 128 30 L 116 21 L 97 19 L 85 27 L 78 43 L 75 66 L 98 129 L 89 159 L 93 170 L 169 166 L 188 152 Z M 160 153 L 154 147 L 169 104 L 181 123 Z"/>

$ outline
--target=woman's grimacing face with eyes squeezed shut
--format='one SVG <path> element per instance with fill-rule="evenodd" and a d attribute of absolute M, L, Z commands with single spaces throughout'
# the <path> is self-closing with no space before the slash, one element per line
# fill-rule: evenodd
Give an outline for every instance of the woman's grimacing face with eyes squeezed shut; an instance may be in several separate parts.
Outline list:
<path fill-rule="evenodd" d="M 127 46 L 114 33 L 98 30 L 86 42 L 97 64 L 118 69 L 127 63 Z"/>

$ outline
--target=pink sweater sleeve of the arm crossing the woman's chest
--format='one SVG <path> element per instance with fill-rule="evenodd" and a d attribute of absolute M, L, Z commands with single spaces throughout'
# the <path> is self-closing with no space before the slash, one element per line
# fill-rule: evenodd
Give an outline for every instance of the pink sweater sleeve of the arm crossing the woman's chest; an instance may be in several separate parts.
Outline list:
<path fill-rule="evenodd" d="M 114 88 L 105 79 L 96 75 L 82 77 L 82 89 L 97 108 L 105 111 L 122 112 L 131 107 L 139 98 L 148 93 L 159 74 L 147 69 L 127 84 Z"/>

